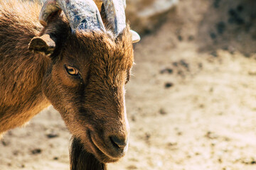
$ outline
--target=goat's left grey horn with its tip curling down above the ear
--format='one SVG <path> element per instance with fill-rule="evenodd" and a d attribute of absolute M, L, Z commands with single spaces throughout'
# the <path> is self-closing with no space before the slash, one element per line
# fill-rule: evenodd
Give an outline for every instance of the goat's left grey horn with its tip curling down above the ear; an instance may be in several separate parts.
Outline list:
<path fill-rule="evenodd" d="M 47 0 L 43 4 L 39 21 L 46 26 L 51 13 L 63 10 L 72 30 L 103 30 L 105 26 L 96 4 L 92 0 Z"/>

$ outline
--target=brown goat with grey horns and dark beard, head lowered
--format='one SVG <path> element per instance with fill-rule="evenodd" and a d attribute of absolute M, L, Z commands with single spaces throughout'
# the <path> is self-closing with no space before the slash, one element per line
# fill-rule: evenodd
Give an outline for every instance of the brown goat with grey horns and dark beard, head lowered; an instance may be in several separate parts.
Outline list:
<path fill-rule="evenodd" d="M 124 8 L 125 0 L 0 1 L 0 135 L 53 105 L 73 135 L 70 169 L 107 169 L 124 156 L 124 85 L 139 40 Z"/>

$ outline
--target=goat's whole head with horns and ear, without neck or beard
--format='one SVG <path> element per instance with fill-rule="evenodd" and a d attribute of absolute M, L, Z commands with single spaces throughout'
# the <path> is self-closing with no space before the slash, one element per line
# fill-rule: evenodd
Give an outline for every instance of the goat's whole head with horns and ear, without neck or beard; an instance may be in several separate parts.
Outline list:
<path fill-rule="evenodd" d="M 125 0 L 101 2 L 110 31 L 92 0 L 47 0 L 39 16 L 45 28 L 28 48 L 50 55 L 43 94 L 85 151 L 107 163 L 127 151 L 124 85 L 133 64 L 132 42 L 139 35 L 132 38 L 126 26 Z"/>

